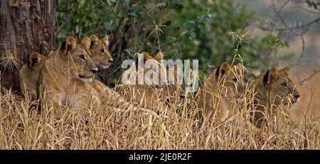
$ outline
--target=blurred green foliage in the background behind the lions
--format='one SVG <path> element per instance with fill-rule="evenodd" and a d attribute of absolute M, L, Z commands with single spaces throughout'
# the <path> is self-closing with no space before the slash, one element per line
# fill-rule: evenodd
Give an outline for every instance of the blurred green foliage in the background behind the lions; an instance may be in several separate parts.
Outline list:
<path fill-rule="evenodd" d="M 100 38 L 109 35 L 114 62 L 99 77 L 111 87 L 122 73 L 123 60 L 143 51 L 155 55 L 159 48 L 165 59 L 198 59 L 201 75 L 208 75 L 221 62 L 233 62 L 236 54 L 245 66 L 263 71 L 297 55 L 301 58 L 294 58 L 294 62 L 304 62 L 305 43 L 299 45 L 302 53 L 284 51 L 278 55 L 279 50 L 289 48 L 290 33 L 304 41 L 304 29 L 314 23 L 319 27 L 316 16 L 310 26 L 288 26 L 281 13 L 290 3 L 303 6 L 306 13 L 318 12 L 314 14 L 319 17 L 320 3 L 309 0 L 61 0 L 55 44 L 68 35 L 78 40 L 92 34 Z M 259 12 L 262 8 L 267 12 Z M 259 32 L 253 35 L 252 31 Z"/>

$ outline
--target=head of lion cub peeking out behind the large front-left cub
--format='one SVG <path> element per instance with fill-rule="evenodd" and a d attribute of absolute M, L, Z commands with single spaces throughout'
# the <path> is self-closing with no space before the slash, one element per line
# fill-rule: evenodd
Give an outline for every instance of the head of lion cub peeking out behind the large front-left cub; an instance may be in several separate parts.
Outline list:
<path fill-rule="evenodd" d="M 97 67 L 102 69 L 107 69 L 112 62 L 112 56 L 109 51 L 109 39 L 107 36 L 105 38 L 99 39 L 96 35 L 91 35 L 89 37 L 83 38 L 81 44 L 87 48 L 91 53 L 91 59 L 95 62 Z"/>

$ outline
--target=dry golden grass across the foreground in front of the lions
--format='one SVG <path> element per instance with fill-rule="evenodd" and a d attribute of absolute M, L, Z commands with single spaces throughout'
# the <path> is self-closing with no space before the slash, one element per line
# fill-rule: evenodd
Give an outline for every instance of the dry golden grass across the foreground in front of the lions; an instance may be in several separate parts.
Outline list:
<path fill-rule="evenodd" d="M 199 122 L 196 108 L 187 108 L 194 104 L 191 95 L 159 106 L 157 114 L 115 111 L 106 99 L 98 109 L 59 115 L 45 104 L 39 112 L 28 98 L 6 92 L 0 97 L 0 149 L 319 149 L 319 80 L 318 74 L 305 82 L 299 102 L 282 108 L 287 116 L 277 132 L 250 123 L 250 90 L 238 114 L 222 124 Z"/>

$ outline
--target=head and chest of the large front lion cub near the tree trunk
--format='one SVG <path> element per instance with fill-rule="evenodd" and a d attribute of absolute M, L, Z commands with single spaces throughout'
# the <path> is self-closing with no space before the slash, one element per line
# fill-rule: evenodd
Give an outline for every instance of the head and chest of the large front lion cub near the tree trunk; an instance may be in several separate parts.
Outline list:
<path fill-rule="evenodd" d="M 70 36 L 44 61 L 37 82 L 38 98 L 45 97 L 50 106 L 98 106 L 100 99 L 90 85 L 95 73 L 90 52 Z"/>

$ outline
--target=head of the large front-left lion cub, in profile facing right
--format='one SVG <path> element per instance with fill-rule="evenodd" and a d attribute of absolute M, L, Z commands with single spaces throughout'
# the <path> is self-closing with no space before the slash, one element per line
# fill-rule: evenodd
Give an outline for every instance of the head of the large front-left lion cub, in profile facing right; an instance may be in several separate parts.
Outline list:
<path fill-rule="evenodd" d="M 92 82 L 97 73 L 97 66 L 90 58 L 90 52 L 77 44 L 75 38 L 70 36 L 60 45 L 59 55 L 63 72 L 69 77 L 72 76 L 83 82 Z"/>

